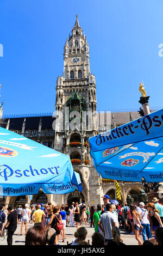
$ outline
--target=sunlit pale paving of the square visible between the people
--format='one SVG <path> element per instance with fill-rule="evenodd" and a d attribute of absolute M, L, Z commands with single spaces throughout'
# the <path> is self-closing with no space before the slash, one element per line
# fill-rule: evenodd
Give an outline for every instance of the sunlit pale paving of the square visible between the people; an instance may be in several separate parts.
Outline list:
<path fill-rule="evenodd" d="M 33 223 L 29 223 L 28 224 L 28 228 L 33 227 Z M 79 227 L 81 227 L 79 225 Z M 95 229 L 91 228 L 89 225 L 85 225 L 83 224 L 82 227 L 85 227 L 87 229 L 87 236 L 86 239 L 90 241 L 90 245 L 91 245 L 91 236 L 94 233 Z M 12 245 L 25 245 L 25 227 L 23 227 L 23 235 L 20 236 L 20 229 L 21 229 L 21 224 L 17 225 L 17 229 L 13 235 L 13 242 Z M 66 227 L 66 240 L 65 242 L 62 242 L 61 239 L 61 235 L 60 235 L 60 239 L 59 239 L 59 244 L 60 245 L 67 245 L 67 241 L 68 243 L 71 243 L 72 240 L 74 239 L 74 232 L 76 231 L 76 227 L 70 227 L 70 225 L 68 224 L 68 227 Z M 135 235 L 130 235 L 129 232 L 125 231 L 125 230 L 120 230 L 121 231 L 121 236 L 123 239 L 123 242 L 126 245 L 138 245 L 136 239 L 135 239 Z M 142 235 L 141 235 L 141 240 L 142 240 Z M 142 240 L 143 241 L 143 240 Z M 7 237 L 5 237 L 5 239 L 2 241 L 2 239 L 0 238 L 0 245 L 7 245 Z"/>

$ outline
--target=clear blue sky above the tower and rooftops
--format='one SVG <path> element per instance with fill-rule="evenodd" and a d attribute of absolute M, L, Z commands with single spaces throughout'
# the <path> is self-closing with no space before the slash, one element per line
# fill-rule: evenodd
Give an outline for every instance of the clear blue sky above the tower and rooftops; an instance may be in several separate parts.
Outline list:
<path fill-rule="evenodd" d="M 76 14 L 89 42 L 98 111 L 139 109 L 142 80 L 149 106 L 163 107 L 162 9 L 161 0 L 1 0 L 4 114 L 55 110 L 55 85 Z"/>

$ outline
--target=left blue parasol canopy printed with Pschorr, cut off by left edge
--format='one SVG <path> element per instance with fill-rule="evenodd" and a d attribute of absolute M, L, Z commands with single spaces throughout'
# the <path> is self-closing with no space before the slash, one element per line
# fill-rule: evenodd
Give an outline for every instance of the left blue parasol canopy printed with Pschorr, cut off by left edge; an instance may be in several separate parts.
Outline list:
<path fill-rule="evenodd" d="M 0 127 L 0 196 L 82 191 L 70 157 Z"/>

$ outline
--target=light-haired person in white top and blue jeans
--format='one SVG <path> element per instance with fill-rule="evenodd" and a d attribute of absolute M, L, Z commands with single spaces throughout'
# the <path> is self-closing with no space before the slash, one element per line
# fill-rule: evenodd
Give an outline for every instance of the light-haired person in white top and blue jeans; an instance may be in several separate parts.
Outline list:
<path fill-rule="evenodd" d="M 148 239 L 151 238 L 151 227 L 150 227 L 150 222 L 149 222 L 149 216 L 148 216 L 147 209 L 145 209 L 145 204 L 143 202 L 141 202 L 139 204 L 139 206 L 140 206 L 139 215 L 140 215 L 140 220 L 141 220 L 140 222 L 143 227 L 142 237 L 143 237 L 143 241 L 146 241 L 147 237 L 148 237 Z"/>

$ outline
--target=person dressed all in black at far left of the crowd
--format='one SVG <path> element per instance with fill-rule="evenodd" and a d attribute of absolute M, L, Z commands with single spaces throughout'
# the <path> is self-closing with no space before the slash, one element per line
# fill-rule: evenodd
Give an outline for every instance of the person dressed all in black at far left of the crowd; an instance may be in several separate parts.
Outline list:
<path fill-rule="evenodd" d="M 7 228 L 8 230 L 7 243 L 8 245 L 12 245 L 12 236 L 17 229 L 17 211 L 14 210 L 13 207 L 10 205 L 8 207 L 8 212 L 8 220 L 7 223 L 4 225 L 4 229 Z"/>

